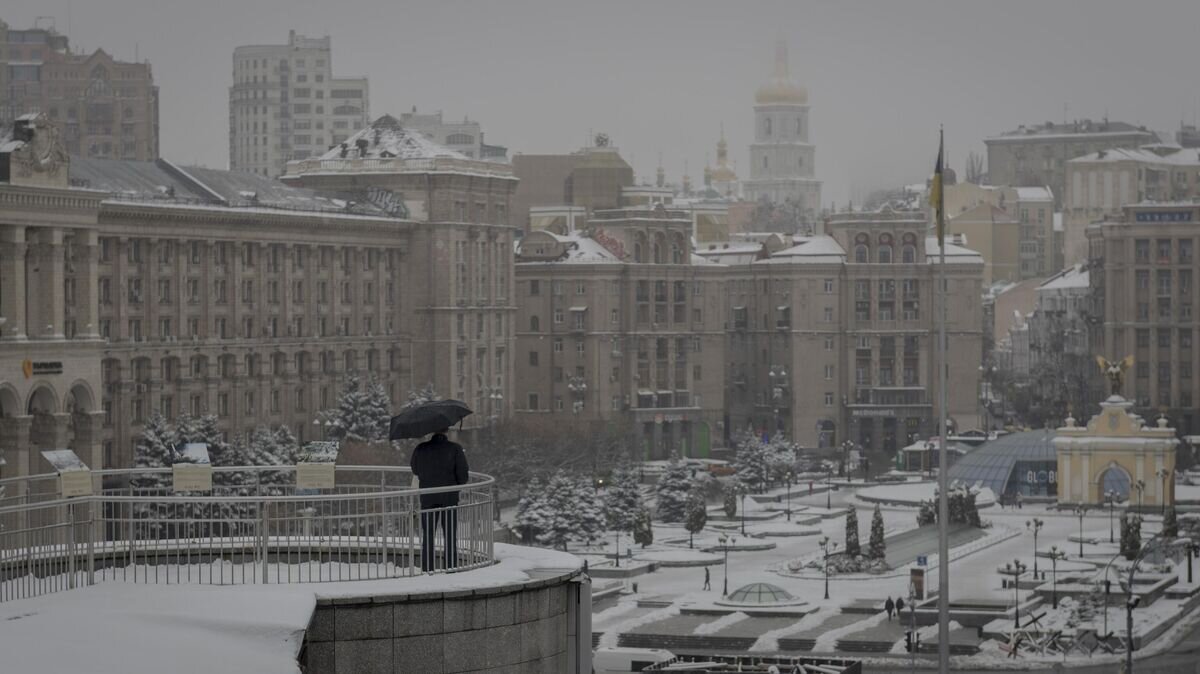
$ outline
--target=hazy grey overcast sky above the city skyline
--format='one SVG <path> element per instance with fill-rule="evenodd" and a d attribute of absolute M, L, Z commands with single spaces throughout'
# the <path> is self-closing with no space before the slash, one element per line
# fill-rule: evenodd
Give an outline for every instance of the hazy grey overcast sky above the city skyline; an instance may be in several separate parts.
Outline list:
<path fill-rule="evenodd" d="M 70 6 L 70 24 L 68 24 Z M 754 91 L 790 42 L 809 89 L 826 204 L 923 180 L 946 126 L 961 171 L 1020 124 L 1109 119 L 1174 131 L 1200 101 L 1200 1 L 5 0 L 14 28 L 53 16 L 72 43 L 154 65 L 162 154 L 228 162 L 239 44 L 330 35 L 335 74 L 371 79 L 371 114 L 416 106 L 480 121 L 516 152 L 606 132 L 653 180 L 696 185 L 725 124 L 748 174 Z M 1066 110 L 1064 110 L 1066 106 Z"/>

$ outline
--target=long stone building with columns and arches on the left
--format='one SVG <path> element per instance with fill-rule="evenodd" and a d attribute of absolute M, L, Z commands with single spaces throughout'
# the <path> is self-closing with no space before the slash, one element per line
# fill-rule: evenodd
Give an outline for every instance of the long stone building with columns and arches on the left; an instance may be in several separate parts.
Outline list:
<path fill-rule="evenodd" d="M 516 181 L 426 145 L 380 157 L 407 138 L 394 122 L 361 132 L 374 156 L 289 166 L 292 185 L 68 161 L 44 119 L 18 122 L 0 143 L 2 474 L 62 446 L 126 467 L 155 410 L 313 439 L 352 374 L 505 415 Z"/>

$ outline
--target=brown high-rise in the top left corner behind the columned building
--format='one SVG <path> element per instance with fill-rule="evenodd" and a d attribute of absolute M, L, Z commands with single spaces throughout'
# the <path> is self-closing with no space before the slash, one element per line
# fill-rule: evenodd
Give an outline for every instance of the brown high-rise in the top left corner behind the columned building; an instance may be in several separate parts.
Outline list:
<path fill-rule="evenodd" d="M 72 155 L 158 156 L 158 88 L 149 62 L 118 61 L 103 49 L 76 54 L 53 28 L 0 22 L 0 122 L 31 113 L 59 127 Z"/>

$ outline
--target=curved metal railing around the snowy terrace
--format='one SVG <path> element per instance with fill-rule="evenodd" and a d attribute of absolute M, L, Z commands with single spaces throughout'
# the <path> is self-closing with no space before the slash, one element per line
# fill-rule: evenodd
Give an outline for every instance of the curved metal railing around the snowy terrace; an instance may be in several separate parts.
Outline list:
<path fill-rule="evenodd" d="M 430 489 L 397 467 L 340 465 L 319 492 L 276 465 L 214 468 L 208 493 L 173 492 L 168 468 L 92 482 L 92 495 L 62 498 L 56 475 L 0 480 L 0 602 L 98 582 L 320 583 L 493 561 L 494 480 L 478 473 Z M 457 505 L 421 508 L 450 492 Z"/>

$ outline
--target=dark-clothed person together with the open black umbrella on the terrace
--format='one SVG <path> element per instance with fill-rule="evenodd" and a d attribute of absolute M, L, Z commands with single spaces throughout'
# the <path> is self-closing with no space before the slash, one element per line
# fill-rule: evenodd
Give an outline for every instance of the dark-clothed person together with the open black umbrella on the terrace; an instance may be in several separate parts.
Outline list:
<path fill-rule="evenodd" d="M 446 438 L 450 426 L 462 421 L 470 409 L 458 401 L 436 401 L 406 409 L 391 419 L 392 440 L 419 438 L 433 432 L 433 437 L 413 450 L 409 467 L 420 488 L 455 487 L 469 480 L 467 453 L 462 445 Z M 451 489 L 432 494 L 421 493 L 421 571 L 436 568 L 438 529 L 445 536 L 445 568 L 458 565 L 456 546 L 458 531 L 458 491 Z"/>

